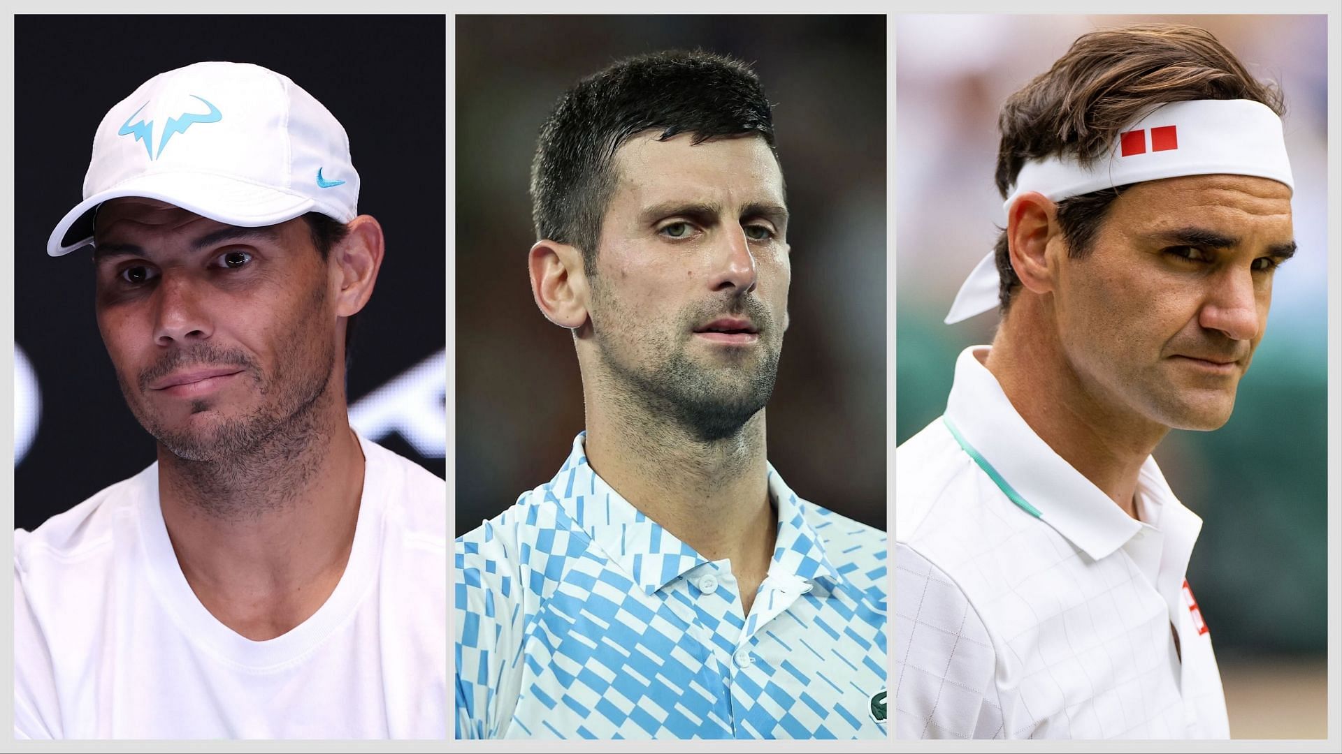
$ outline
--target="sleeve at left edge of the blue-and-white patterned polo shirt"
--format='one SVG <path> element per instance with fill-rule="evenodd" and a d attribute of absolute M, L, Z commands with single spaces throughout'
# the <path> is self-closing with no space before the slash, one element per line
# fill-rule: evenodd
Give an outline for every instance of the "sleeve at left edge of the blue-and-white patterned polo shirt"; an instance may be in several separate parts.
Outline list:
<path fill-rule="evenodd" d="M 501 537 L 502 535 L 502 537 Z M 501 738 L 522 676 L 529 569 L 515 531 L 484 526 L 456 541 L 456 738 Z"/>

